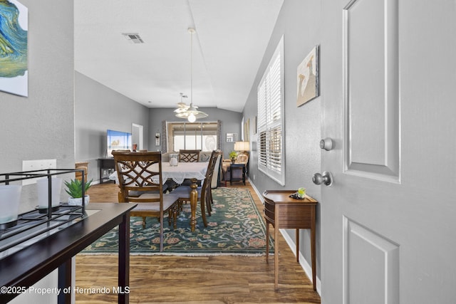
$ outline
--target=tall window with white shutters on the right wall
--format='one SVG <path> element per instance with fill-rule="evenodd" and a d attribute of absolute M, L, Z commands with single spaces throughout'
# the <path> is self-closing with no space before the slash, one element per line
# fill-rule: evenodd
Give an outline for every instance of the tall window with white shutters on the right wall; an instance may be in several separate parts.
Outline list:
<path fill-rule="evenodd" d="M 284 162 L 284 37 L 258 85 L 258 169 L 282 186 Z"/>

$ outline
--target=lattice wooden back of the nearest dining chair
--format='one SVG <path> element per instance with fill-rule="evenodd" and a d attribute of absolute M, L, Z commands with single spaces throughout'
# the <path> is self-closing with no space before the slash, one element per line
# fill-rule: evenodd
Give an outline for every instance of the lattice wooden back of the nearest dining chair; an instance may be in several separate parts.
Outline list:
<path fill-rule="evenodd" d="M 113 151 L 113 156 L 119 179 L 119 202 L 162 202 L 161 152 Z M 133 191 L 135 196 L 130 196 Z M 141 199 L 138 192 L 153 192 L 156 195 Z"/>

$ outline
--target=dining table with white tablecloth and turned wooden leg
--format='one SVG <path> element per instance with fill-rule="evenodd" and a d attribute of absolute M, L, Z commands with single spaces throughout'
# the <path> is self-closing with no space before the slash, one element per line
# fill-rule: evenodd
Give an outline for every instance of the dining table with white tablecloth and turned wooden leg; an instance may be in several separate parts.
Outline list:
<path fill-rule="evenodd" d="M 162 162 L 162 182 L 172 179 L 177 184 L 182 184 L 185 179 L 190 179 L 190 208 L 192 216 L 190 217 L 190 228 L 195 231 L 197 224 L 197 181 L 206 178 L 207 166 L 209 162 L 177 162 L 177 166 L 171 166 L 169 162 Z M 153 168 L 153 166 L 152 166 Z"/>

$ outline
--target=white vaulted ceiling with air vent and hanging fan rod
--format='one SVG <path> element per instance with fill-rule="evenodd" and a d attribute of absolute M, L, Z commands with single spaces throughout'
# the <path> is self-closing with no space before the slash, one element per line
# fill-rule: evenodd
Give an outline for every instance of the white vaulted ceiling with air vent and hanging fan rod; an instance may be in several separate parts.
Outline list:
<path fill-rule="evenodd" d="M 75 69 L 149 108 L 242 112 L 283 0 L 76 0 Z M 143 44 L 123 33 L 138 33 Z"/>

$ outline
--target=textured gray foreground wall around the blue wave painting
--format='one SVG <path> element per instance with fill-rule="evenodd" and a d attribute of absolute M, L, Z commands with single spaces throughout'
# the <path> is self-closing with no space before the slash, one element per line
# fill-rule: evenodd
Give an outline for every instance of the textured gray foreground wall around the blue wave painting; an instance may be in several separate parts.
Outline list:
<path fill-rule="evenodd" d="M 21 0 L 28 8 L 28 97 L 0 92 L 0 172 L 24 159 L 57 159 L 74 168 L 73 1 Z M 21 211 L 36 206 L 23 188 Z"/>

